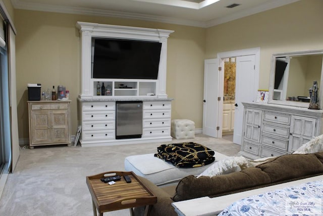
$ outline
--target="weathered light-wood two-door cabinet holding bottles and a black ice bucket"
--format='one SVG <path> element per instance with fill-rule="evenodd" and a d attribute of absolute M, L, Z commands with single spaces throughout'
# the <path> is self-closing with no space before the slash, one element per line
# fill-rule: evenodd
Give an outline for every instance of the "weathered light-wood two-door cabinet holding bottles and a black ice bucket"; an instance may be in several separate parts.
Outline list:
<path fill-rule="evenodd" d="M 29 148 L 71 145 L 71 101 L 28 101 Z"/>

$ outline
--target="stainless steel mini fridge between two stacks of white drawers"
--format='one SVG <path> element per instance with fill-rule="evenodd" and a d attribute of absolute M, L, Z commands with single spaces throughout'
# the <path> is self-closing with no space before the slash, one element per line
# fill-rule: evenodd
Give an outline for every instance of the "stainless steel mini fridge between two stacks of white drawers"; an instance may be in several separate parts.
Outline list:
<path fill-rule="evenodd" d="M 141 138 L 142 101 L 117 101 L 116 106 L 116 139 Z"/>

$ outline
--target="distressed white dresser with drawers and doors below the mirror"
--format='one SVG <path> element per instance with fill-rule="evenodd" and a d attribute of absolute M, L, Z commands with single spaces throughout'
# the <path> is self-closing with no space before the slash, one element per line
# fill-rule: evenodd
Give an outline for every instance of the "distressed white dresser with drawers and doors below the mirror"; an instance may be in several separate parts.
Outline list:
<path fill-rule="evenodd" d="M 322 110 L 242 103 L 242 145 L 239 155 L 255 159 L 290 154 L 322 134 Z"/>

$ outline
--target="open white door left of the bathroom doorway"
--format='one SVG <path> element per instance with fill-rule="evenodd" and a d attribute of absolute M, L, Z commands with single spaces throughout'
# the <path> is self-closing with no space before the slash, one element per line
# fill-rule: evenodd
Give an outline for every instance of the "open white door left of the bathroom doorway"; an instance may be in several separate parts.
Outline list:
<path fill-rule="evenodd" d="M 203 128 L 202 133 L 218 137 L 218 108 L 219 108 L 219 61 L 207 59 L 204 61 L 204 98 L 203 98 Z"/>

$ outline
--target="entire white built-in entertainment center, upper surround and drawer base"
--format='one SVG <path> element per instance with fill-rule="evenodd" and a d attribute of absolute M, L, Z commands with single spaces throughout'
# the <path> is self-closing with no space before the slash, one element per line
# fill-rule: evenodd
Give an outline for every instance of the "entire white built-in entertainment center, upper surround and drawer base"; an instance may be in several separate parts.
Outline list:
<path fill-rule="evenodd" d="M 81 34 L 81 93 L 78 123 L 82 147 L 170 141 L 171 101 L 166 94 L 167 38 L 173 31 L 77 22 Z M 161 44 L 156 79 L 93 78 L 93 38 L 155 41 Z M 96 84 L 111 87 L 97 96 Z M 122 88 L 122 87 L 126 88 Z M 143 101 L 142 137 L 116 139 L 116 102 Z"/>

